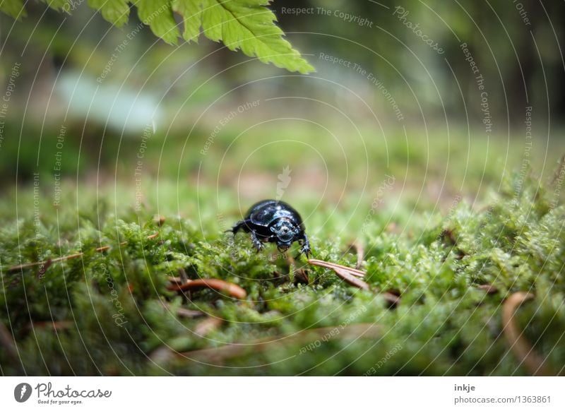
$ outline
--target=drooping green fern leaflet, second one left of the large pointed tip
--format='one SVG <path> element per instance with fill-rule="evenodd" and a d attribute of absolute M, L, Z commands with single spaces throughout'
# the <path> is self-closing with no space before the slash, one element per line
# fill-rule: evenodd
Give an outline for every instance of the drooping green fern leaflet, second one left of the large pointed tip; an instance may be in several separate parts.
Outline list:
<path fill-rule="evenodd" d="M 177 44 L 180 35 L 177 22 L 172 16 L 171 0 L 138 0 L 137 13 L 157 37 L 169 44 Z"/>

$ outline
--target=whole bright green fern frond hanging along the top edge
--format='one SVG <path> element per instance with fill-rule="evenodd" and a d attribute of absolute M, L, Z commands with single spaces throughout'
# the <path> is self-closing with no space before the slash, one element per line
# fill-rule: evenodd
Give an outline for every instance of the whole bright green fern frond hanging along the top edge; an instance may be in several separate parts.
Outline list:
<path fill-rule="evenodd" d="M 77 0 L 42 1 L 66 13 L 80 4 Z M 263 63 L 299 73 L 314 71 L 283 38 L 275 14 L 266 7 L 269 4 L 270 0 L 88 0 L 88 6 L 117 27 L 128 22 L 131 6 L 135 6 L 140 20 L 169 44 L 177 44 L 181 35 L 187 42 L 198 42 L 202 31 L 210 40 L 221 41 L 233 51 L 240 49 Z M 23 0 L 1 0 L 0 10 L 17 19 L 26 15 Z M 174 13 L 182 17 L 182 30 Z"/>

